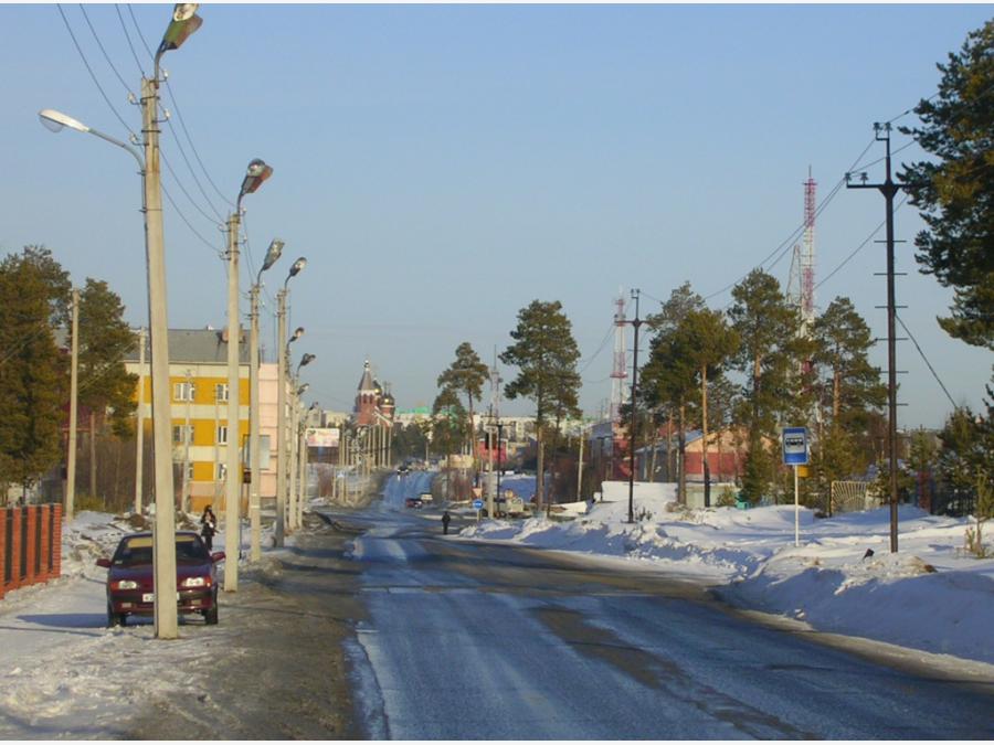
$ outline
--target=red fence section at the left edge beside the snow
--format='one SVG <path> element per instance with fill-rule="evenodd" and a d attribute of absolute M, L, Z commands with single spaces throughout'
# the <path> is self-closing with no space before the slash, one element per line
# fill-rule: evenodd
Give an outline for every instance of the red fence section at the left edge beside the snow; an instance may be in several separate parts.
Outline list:
<path fill-rule="evenodd" d="M 62 574 L 62 504 L 0 509 L 0 597 Z"/>

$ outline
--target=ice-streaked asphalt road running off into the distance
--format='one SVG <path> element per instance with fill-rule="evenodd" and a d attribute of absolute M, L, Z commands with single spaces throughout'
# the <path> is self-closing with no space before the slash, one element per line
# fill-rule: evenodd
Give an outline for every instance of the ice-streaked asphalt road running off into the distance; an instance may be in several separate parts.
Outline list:
<path fill-rule="evenodd" d="M 345 558 L 367 737 L 994 737 L 994 681 L 881 664 L 663 574 L 444 538 L 437 511 L 398 504 L 332 515 L 364 531 Z"/>

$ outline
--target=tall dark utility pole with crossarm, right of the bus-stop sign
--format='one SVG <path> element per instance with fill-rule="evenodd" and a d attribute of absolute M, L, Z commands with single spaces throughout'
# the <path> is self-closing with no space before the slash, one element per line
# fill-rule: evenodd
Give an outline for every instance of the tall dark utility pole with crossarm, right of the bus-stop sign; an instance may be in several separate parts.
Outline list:
<path fill-rule="evenodd" d="M 882 135 L 881 135 L 882 132 Z M 893 198 L 905 187 L 896 183 L 890 172 L 890 123 L 874 123 L 874 135 L 878 142 L 882 141 L 887 147 L 886 175 L 884 183 L 867 183 L 866 173 L 860 173 L 861 183 L 849 183 L 850 173 L 846 173 L 846 188 L 848 189 L 877 189 L 886 202 L 887 213 L 887 429 L 888 429 L 888 458 L 889 486 L 890 486 L 890 552 L 898 550 L 898 494 L 897 494 L 897 349 L 895 318 L 897 305 L 893 286 Z"/>

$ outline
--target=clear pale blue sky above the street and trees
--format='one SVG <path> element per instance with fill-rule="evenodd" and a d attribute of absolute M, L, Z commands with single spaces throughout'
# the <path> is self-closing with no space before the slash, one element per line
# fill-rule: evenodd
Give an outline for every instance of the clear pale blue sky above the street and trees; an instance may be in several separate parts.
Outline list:
<path fill-rule="evenodd" d="M 118 8 L 148 70 L 128 7 Z M 286 241 L 268 273 L 271 296 L 293 259 L 308 258 L 290 283 L 292 322 L 307 329 L 295 354 L 317 354 L 305 374 L 314 400 L 350 407 L 369 356 L 400 407 L 430 404 L 459 342 L 489 361 L 495 345 L 509 343 L 517 311 L 539 298 L 562 301 L 572 320 L 584 355 L 581 405 L 596 413 L 610 393 L 610 341 L 586 363 L 618 288 L 639 287 L 648 312 L 684 280 L 708 296 L 741 278 L 801 224 L 808 167 L 821 200 L 870 142 L 874 121 L 935 92 L 935 63 L 991 9 L 208 4 L 203 26 L 165 66 L 182 125 L 228 200 L 252 158 L 275 169 L 243 202 L 248 254 L 257 269 L 269 240 Z M 171 6 L 131 10 L 155 47 Z M 139 111 L 80 7 L 63 11 L 104 91 L 138 130 Z M 137 91 L 115 6 L 86 12 Z M 0 6 L 0 253 L 44 244 L 75 281 L 106 279 L 128 320 L 145 323 L 134 162 L 96 138 L 52 135 L 35 115 L 51 107 L 117 137 L 127 131 L 55 6 Z M 168 173 L 163 183 L 203 238 L 167 202 L 170 324 L 221 327 L 224 238 L 213 210 L 223 217 L 231 207 L 197 164 L 166 91 L 163 104 L 173 114 L 163 152 L 195 206 Z M 895 148 L 908 141 L 896 134 Z M 880 156 L 878 145 L 863 162 Z M 897 158 L 918 156 L 910 147 Z M 880 169 L 870 178 L 882 178 Z M 882 219 L 876 192 L 839 192 L 818 217 L 816 281 Z M 898 284 L 898 301 L 909 306 L 901 316 L 953 398 L 977 407 L 992 355 L 938 328 L 951 292 L 918 274 L 913 210 L 898 211 L 896 222 L 909 241 L 898 251 L 909 273 Z M 790 255 L 771 272 L 785 285 L 789 267 Z M 847 295 L 885 336 L 875 308 L 885 283 L 874 276 L 882 268 L 882 246 L 868 244 L 818 287 L 817 305 Z M 263 319 L 269 352 L 272 311 Z M 900 426 L 940 425 L 948 400 L 910 342 L 898 354 L 909 371 Z M 884 344 L 874 360 L 886 364 Z"/>

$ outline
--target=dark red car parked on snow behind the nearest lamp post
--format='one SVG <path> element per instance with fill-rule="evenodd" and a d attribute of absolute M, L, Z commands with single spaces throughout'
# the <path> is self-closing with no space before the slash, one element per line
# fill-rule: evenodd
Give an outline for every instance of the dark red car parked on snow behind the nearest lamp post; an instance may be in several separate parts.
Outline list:
<path fill-rule="evenodd" d="M 176 534 L 176 596 L 181 614 L 200 614 L 218 622 L 218 562 L 223 551 L 210 553 L 192 531 Z M 152 534 L 131 533 L 117 544 L 113 558 L 98 558 L 107 570 L 107 625 L 124 626 L 130 615 L 151 616 L 155 608 Z"/>

